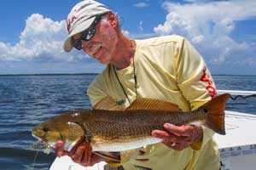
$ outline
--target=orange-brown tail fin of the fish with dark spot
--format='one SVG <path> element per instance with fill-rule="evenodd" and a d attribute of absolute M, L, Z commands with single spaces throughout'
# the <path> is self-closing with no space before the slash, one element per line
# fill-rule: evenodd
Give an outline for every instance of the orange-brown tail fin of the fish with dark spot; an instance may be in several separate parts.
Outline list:
<path fill-rule="evenodd" d="M 200 107 L 201 111 L 207 113 L 206 126 L 212 128 L 213 131 L 219 134 L 225 134 L 224 110 L 225 103 L 229 98 L 230 94 L 222 94 Z"/>

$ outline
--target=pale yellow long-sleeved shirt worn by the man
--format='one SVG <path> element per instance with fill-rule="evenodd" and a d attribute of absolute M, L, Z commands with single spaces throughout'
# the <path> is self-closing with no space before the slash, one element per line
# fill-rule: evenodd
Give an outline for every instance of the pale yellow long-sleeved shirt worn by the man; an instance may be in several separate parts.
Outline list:
<path fill-rule="evenodd" d="M 215 84 L 201 55 L 183 37 L 166 36 L 135 40 L 134 65 L 116 71 L 131 102 L 138 98 L 162 99 L 175 103 L 183 111 L 195 110 L 216 94 Z M 135 87 L 134 67 L 137 77 Z M 112 65 L 90 83 L 87 94 L 92 105 L 111 96 L 119 105 L 130 105 L 115 76 Z M 137 88 L 137 94 L 136 94 Z M 188 147 L 177 151 L 165 144 L 152 144 L 121 153 L 123 167 L 128 170 L 148 167 L 154 170 L 217 170 L 219 157 L 213 132 L 203 127 L 201 150 Z M 139 150 L 143 150 L 142 154 Z M 137 161 L 148 159 L 149 161 Z"/>

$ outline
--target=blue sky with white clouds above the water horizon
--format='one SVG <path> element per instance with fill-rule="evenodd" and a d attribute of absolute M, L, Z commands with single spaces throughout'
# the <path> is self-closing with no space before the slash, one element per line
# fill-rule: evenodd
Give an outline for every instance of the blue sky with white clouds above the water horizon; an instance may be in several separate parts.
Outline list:
<path fill-rule="evenodd" d="M 106 65 L 65 53 L 66 20 L 79 0 L 1 2 L 0 74 L 99 73 Z M 256 0 L 99 0 L 119 16 L 125 36 L 180 35 L 212 74 L 256 75 Z"/>

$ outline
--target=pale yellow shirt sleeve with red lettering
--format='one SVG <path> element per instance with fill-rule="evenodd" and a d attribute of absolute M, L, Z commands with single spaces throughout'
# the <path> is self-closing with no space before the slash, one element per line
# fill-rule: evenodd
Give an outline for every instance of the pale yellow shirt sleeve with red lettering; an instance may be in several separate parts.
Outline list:
<path fill-rule="evenodd" d="M 177 86 L 189 102 L 191 111 L 204 105 L 217 94 L 215 83 L 204 59 L 184 38 L 179 47 L 176 69 Z M 203 126 L 203 139 L 197 146 L 195 144 L 194 148 L 207 144 L 213 134 L 212 129 Z"/>

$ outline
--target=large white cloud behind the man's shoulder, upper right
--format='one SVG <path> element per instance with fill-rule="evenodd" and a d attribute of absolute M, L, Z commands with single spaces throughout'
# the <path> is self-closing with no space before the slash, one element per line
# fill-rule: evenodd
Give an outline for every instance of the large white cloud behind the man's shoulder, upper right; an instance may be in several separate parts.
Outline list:
<path fill-rule="evenodd" d="M 256 59 L 253 58 L 255 44 L 236 42 L 232 38 L 237 21 L 251 20 L 256 16 L 256 1 L 193 2 L 163 3 L 163 8 L 168 12 L 166 21 L 154 27 L 154 31 L 158 35 L 178 34 L 187 37 L 212 65 L 237 65 L 237 59 L 243 59 L 244 65 L 256 67 Z"/>

